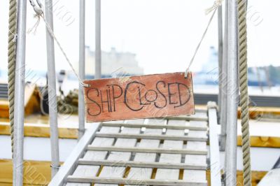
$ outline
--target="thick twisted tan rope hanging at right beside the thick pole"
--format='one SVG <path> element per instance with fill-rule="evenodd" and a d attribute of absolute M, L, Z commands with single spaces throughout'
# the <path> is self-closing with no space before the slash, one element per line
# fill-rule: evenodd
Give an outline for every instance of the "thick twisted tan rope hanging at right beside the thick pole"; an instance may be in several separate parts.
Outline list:
<path fill-rule="evenodd" d="M 248 120 L 248 78 L 247 78 L 247 2 L 238 0 L 238 32 L 239 32 L 239 80 L 241 105 L 241 131 L 243 152 L 243 184 L 251 186 L 250 134 Z"/>

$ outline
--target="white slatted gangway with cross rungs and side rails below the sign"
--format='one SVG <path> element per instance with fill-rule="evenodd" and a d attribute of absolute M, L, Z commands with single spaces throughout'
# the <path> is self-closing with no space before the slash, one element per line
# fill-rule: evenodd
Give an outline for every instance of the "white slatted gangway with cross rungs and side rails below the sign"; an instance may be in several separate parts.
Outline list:
<path fill-rule="evenodd" d="M 195 115 L 94 123 L 49 185 L 208 185 L 207 170 L 221 185 L 217 124 L 213 102 Z"/>

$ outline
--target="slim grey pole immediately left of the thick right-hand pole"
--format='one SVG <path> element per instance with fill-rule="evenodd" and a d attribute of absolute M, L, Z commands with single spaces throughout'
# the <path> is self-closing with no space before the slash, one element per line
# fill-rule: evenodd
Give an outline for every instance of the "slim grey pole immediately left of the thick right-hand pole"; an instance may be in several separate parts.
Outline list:
<path fill-rule="evenodd" d="M 225 151 L 225 139 L 227 130 L 227 97 L 228 97 L 228 0 L 225 0 L 225 25 L 223 36 L 223 62 L 221 73 L 221 110 L 220 110 L 220 124 L 221 124 L 221 151 Z"/>

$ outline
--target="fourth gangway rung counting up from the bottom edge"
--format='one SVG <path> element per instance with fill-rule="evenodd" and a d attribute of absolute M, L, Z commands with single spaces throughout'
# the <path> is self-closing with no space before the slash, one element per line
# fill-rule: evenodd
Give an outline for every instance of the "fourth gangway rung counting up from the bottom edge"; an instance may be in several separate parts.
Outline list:
<path fill-rule="evenodd" d="M 103 134 L 97 132 L 96 137 L 105 138 L 137 138 L 137 139 L 155 139 L 155 140 L 174 140 L 174 141 L 207 141 L 205 137 L 175 136 L 175 135 L 157 135 L 157 134 Z"/>

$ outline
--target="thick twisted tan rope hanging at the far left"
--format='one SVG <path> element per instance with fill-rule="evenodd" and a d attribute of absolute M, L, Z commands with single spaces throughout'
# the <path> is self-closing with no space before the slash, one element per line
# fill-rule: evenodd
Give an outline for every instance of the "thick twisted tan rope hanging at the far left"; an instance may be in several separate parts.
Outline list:
<path fill-rule="evenodd" d="M 9 2 L 8 19 L 8 101 L 9 101 L 9 119 L 10 119 L 10 140 L 13 158 L 13 124 L 14 124 L 14 102 L 15 102 L 15 46 L 17 29 L 17 1 Z"/>

